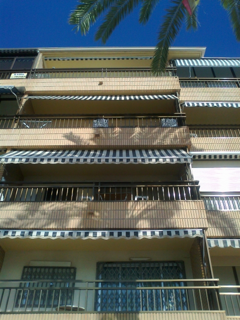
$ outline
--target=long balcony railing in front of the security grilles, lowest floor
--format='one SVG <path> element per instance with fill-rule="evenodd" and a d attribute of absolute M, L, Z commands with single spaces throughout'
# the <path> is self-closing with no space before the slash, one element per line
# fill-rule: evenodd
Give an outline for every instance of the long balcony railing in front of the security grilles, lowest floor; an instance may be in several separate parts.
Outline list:
<path fill-rule="evenodd" d="M 217 280 L 0 281 L 0 313 L 220 310 Z"/>

